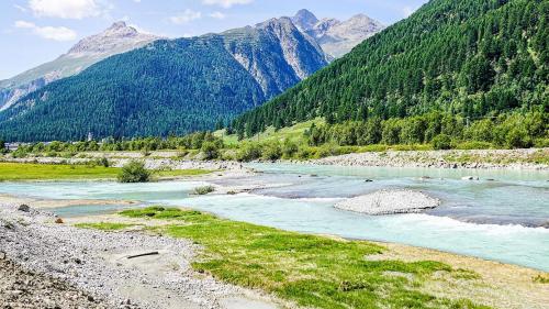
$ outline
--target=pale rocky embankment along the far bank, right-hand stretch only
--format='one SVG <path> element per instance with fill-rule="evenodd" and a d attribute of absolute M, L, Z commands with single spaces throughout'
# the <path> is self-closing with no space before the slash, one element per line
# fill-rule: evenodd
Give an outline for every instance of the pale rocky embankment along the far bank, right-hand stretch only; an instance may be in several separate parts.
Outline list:
<path fill-rule="evenodd" d="M 549 170 L 549 148 L 354 153 L 307 161 L 314 165 Z"/>

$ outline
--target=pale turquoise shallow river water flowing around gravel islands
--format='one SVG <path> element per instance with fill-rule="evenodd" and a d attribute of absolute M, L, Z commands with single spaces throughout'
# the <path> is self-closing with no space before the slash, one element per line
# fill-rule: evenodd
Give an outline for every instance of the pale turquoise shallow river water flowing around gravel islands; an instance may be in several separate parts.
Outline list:
<path fill-rule="evenodd" d="M 549 173 L 282 164 L 250 166 L 265 173 L 212 183 L 273 187 L 237 196 L 194 197 L 190 195 L 192 189 L 205 183 L 3 183 L 0 192 L 187 206 L 285 230 L 399 242 L 549 271 L 549 229 L 533 228 L 547 224 L 549 220 Z M 481 180 L 461 180 L 469 175 Z M 365 179 L 373 181 L 365 183 Z M 422 190 L 442 202 L 439 208 L 422 214 L 381 217 L 333 207 L 343 198 L 386 188 Z M 54 211 L 60 216 L 81 216 L 113 212 L 120 208 L 77 206 Z"/>

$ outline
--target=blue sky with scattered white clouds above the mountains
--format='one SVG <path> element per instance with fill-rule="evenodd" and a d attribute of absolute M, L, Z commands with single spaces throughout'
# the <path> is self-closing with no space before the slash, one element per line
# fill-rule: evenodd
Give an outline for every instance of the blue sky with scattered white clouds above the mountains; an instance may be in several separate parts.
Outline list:
<path fill-rule="evenodd" d="M 79 38 L 124 20 L 168 37 L 255 24 L 309 9 L 318 18 L 366 13 L 394 23 L 427 0 L 2 0 L 0 79 L 52 60 Z"/>

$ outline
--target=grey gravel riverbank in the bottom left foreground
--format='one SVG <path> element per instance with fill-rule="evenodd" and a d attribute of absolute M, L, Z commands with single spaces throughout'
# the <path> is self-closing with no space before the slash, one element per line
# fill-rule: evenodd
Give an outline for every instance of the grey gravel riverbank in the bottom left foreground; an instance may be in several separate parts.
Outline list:
<path fill-rule="evenodd" d="M 0 254 L 11 261 L 3 263 L 74 286 L 78 293 L 67 293 L 78 301 L 83 295 L 104 299 L 105 308 L 277 308 L 254 291 L 193 272 L 190 263 L 200 247 L 190 241 L 76 229 L 55 220 L 47 212 L 0 205 Z M 127 258 L 152 252 L 158 254 Z M 21 297 L 12 300 L 24 301 Z"/>

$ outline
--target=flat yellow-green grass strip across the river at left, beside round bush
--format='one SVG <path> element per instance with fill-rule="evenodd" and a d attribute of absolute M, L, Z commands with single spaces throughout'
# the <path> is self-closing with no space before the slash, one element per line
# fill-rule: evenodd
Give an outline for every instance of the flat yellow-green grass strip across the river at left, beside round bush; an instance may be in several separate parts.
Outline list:
<path fill-rule="evenodd" d="M 181 177 L 204 175 L 212 172 L 205 169 L 155 170 L 153 175 L 157 177 Z M 0 163 L 0 181 L 115 179 L 119 173 L 120 168 L 116 167 Z"/>

